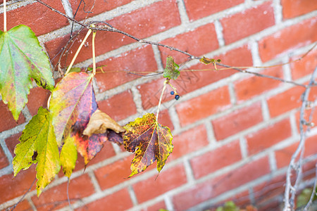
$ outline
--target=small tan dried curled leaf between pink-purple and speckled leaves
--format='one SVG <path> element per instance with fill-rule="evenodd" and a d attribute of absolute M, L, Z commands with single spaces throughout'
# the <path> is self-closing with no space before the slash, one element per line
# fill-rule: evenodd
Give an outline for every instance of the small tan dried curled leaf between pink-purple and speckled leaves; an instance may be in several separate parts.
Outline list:
<path fill-rule="evenodd" d="M 103 113 L 98 109 L 92 114 L 92 117 L 90 117 L 89 123 L 82 134 L 86 136 L 92 136 L 92 134 L 104 134 L 107 129 L 112 129 L 117 134 L 125 132 L 125 129 L 115 120 L 111 119 L 106 113 Z"/>

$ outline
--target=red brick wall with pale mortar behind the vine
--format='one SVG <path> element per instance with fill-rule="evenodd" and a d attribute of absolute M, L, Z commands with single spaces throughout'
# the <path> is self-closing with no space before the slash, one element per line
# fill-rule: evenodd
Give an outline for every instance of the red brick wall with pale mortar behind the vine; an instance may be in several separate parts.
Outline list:
<path fill-rule="evenodd" d="M 54 58 L 69 39 L 70 23 L 45 6 L 30 2 L 9 1 L 8 28 L 30 26 Z M 70 15 L 80 1 L 44 2 Z M 91 2 L 87 1 L 87 8 Z M 175 46 L 195 56 L 249 66 L 285 63 L 308 51 L 317 41 L 316 10 L 317 4 L 311 0 L 97 0 L 88 18 L 106 20 L 135 37 Z M 86 15 L 81 6 L 77 19 L 83 20 Z M 2 18 L 0 14 L 1 30 Z M 68 59 L 63 59 L 62 67 L 70 63 L 84 36 L 85 31 L 74 42 Z M 91 50 L 88 41 L 76 60 L 77 67 L 91 65 Z M 187 59 L 181 53 L 139 44 L 113 32 L 97 33 L 96 50 L 97 65 L 106 65 L 106 73 L 96 76 L 99 107 L 120 124 L 154 111 L 163 79 L 107 70 L 156 71 L 163 70 L 168 55 L 176 63 Z M 306 83 L 316 61 L 315 49 L 298 63 L 256 71 Z M 208 66 L 192 61 L 187 68 Z M 304 89 L 234 70 L 182 72 L 173 84 L 181 98 L 175 101 L 166 94 L 160 121 L 172 130 L 175 148 L 159 177 L 156 179 L 155 167 L 149 167 L 126 179 L 132 155 L 106 143 L 85 171 L 83 159 L 78 159 L 69 186 L 73 207 L 203 210 L 235 200 L 239 205 L 254 204 L 260 210 L 275 209 L 281 203 L 282 198 L 277 196 L 284 191 L 286 167 L 299 142 Z M 316 98 L 316 91 L 311 90 L 311 100 Z M 27 121 L 39 106 L 46 106 L 48 96 L 47 91 L 33 88 L 18 122 L 0 102 L 0 210 L 17 203 L 35 178 L 35 167 L 13 177 L 13 149 Z M 304 179 L 311 179 L 315 172 L 316 139 L 317 130 L 313 128 L 306 141 Z M 60 173 L 39 198 L 33 185 L 16 210 L 67 207 L 66 185 L 67 179 Z"/>

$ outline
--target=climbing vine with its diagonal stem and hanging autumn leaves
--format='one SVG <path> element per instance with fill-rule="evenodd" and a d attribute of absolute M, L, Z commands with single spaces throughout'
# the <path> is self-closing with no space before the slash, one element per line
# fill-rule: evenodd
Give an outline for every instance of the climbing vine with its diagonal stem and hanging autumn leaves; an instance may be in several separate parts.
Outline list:
<path fill-rule="evenodd" d="M 42 1 L 39 2 L 44 4 Z M 51 6 L 44 5 L 56 11 Z M 4 1 L 4 8 L 6 8 L 6 1 Z M 129 177 L 143 172 L 155 161 L 156 168 L 160 172 L 166 164 L 168 156 L 173 152 L 173 135 L 168 127 L 159 123 L 163 93 L 166 87 L 169 86 L 173 89 L 170 94 L 175 95 L 175 100 L 178 100 L 180 95 L 173 86 L 173 81 L 178 79 L 182 71 L 199 70 L 181 70 L 182 65 L 175 63 L 172 56 L 168 56 L 166 58 L 166 68 L 163 72 L 155 73 L 161 74 L 162 77 L 166 78 L 163 82 L 156 114 L 147 113 L 121 127 L 106 113 L 102 113 L 99 110 L 95 98 L 92 81 L 96 75 L 97 68 L 102 70 L 102 67 L 96 66 L 94 52 L 94 38 L 98 31 L 118 32 L 140 43 L 154 44 L 173 51 L 179 51 L 187 55 L 189 57 L 188 60 L 197 59 L 201 63 L 213 67 L 206 70 L 234 69 L 259 77 L 278 79 L 285 83 L 305 87 L 306 90 L 316 86 L 316 83 L 313 82 L 313 77 L 311 83 L 306 85 L 278 77 L 249 72 L 246 69 L 250 67 L 230 67 L 222 64 L 219 59 L 200 58 L 175 49 L 172 46 L 138 39 L 126 32 L 117 30 L 108 25 L 108 23 L 94 22 L 83 24 L 59 11 L 56 12 L 89 29 L 67 70 L 65 72 L 61 71 L 63 76 L 61 81 L 56 84 L 49 58 L 44 53 L 42 46 L 39 45 L 39 41 L 30 27 L 18 25 L 7 31 L 6 11 L 4 10 L 4 32 L 0 31 L 0 93 L 4 103 L 8 104 L 8 109 L 11 110 L 13 118 L 18 120 L 21 111 L 27 103 L 27 95 L 30 94 L 30 89 L 32 88 L 32 79 L 35 80 L 39 87 L 51 91 L 48 108 L 39 108 L 37 115 L 33 116 L 32 120 L 25 126 L 19 139 L 20 143 L 18 143 L 14 151 L 13 171 L 15 176 L 20 170 L 27 170 L 32 164 L 37 165 L 37 196 L 54 179 L 61 167 L 66 177 L 70 177 L 75 169 L 77 152 L 85 158 L 85 165 L 87 165 L 99 153 L 106 141 L 123 145 L 126 151 L 135 153 L 135 157 L 131 162 L 131 174 Z M 91 33 L 92 37 L 90 37 Z M 80 72 L 80 70 L 73 68 L 73 64 L 83 44 L 90 38 L 92 38 L 93 46 L 93 68 L 87 68 L 87 71 Z M 285 196 L 288 196 L 287 194 L 285 193 Z"/>

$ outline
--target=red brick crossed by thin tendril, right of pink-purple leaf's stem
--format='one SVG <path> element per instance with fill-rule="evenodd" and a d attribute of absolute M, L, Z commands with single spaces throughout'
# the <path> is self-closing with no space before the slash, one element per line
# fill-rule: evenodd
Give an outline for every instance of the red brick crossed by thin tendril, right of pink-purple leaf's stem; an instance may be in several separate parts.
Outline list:
<path fill-rule="evenodd" d="M 115 58 L 108 58 L 97 65 L 106 65 L 102 68 L 104 73 L 96 75 L 99 92 L 118 87 L 140 77 L 127 72 L 142 74 L 144 71 L 154 72 L 157 70 L 154 53 L 149 45 L 128 51 Z M 122 72 L 113 72 L 113 70 Z"/>

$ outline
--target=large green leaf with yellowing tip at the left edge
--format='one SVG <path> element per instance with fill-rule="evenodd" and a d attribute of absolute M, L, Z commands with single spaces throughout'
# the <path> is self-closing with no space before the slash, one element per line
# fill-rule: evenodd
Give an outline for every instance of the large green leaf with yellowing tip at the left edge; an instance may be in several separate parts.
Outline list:
<path fill-rule="evenodd" d="M 0 93 L 15 120 L 27 103 L 31 77 L 44 89 L 54 89 L 49 58 L 30 27 L 0 31 Z"/>

